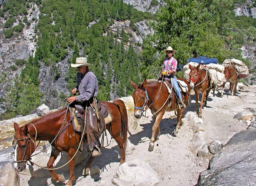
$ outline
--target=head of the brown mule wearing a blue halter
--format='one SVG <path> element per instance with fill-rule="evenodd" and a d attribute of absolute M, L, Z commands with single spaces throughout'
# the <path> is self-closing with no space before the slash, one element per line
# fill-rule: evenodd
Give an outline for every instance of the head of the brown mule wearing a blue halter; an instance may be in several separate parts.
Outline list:
<path fill-rule="evenodd" d="M 135 89 L 135 91 L 132 94 L 134 100 L 134 116 L 136 118 L 141 118 L 144 111 L 144 107 L 147 106 L 148 102 L 148 94 L 146 90 L 147 80 L 145 79 L 143 83 L 140 83 L 138 86 L 135 85 L 135 83 L 133 83 L 132 80 L 130 82 L 132 87 Z"/>

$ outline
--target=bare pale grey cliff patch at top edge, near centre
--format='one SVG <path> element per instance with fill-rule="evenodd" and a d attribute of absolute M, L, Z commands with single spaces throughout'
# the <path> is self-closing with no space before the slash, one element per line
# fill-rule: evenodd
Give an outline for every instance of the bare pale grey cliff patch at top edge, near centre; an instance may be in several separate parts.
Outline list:
<path fill-rule="evenodd" d="M 164 5 L 163 0 L 124 0 L 124 3 L 132 5 L 139 11 L 155 14 Z"/>

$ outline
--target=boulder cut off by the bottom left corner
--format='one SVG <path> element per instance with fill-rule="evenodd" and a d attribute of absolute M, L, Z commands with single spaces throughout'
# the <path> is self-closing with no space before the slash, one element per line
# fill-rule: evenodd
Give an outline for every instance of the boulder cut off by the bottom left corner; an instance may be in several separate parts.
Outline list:
<path fill-rule="evenodd" d="M 11 163 L 7 163 L 0 170 L 0 185 L 19 186 L 19 176 Z"/>

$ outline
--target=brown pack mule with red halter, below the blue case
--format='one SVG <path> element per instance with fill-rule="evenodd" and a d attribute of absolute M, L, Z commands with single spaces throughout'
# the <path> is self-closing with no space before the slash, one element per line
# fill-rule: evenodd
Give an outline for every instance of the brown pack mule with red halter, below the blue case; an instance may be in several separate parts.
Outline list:
<path fill-rule="evenodd" d="M 207 104 L 207 97 L 209 95 L 209 92 L 211 91 L 210 87 L 210 80 L 209 75 L 206 70 L 200 69 L 200 64 L 193 68 L 191 65 L 189 65 L 190 73 L 189 73 L 189 86 L 191 89 L 195 90 L 196 94 L 196 111 L 198 109 L 198 100 L 199 100 L 199 93 L 202 93 L 202 98 L 200 102 L 200 110 L 198 117 L 202 117 L 202 108 L 203 103 L 204 106 Z"/>

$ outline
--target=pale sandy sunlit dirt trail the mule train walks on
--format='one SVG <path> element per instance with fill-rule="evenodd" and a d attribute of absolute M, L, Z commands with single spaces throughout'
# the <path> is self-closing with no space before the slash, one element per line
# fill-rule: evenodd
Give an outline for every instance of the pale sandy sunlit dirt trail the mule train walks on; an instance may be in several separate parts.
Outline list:
<path fill-rule="evenodd" d="M 223 98 L 219 94 L 213 97 L 213 94 L 210 93 L 208 106 L 204 107 L 202 112 L 204 140 L 208 144 L 214 140 L 225 144 L 234 134 L 246 129 L 248 125 L 245 121 L 236 121 L 233 117 L 236 113 L 245 110 L 255 114 L 255 92 L 256 89 L 246 87 L 239 92 L 238 96 L 224 96 Z M 194 96 L 192 96 L 192 103 L 186 108 L 185 114 L 194 111 L 195 101 L 193 100 Z M 150 114 L 150 111 L 147 111 L 147 114 Z M 135 145 L 135 150 L 126 156 L 126 161 L 140 159 L 149 163 L 159 175 L 159 185 L 161 186 L 195 185 L 199 173 L 207 169 L 209 159 L 197 157 L 190 151 L 193 142 L 190 122 L 183 118 L 183 125 L 175 136 L 172 134 L 176 125 L 174 112 L 166 112 L 160 123 L 160 138 L 155 142 L 154 151 L 149 152 L 148 144 L 153 122 L 153 117 L 142 117 L 138 120 L 137 129 L 131 130 L 132 135 L 128 139 Z M 81 176 L 85 165 L 85 162 L 82 162 L 75 167 L 76 185 L 113 185 L 111 179 L 116 173 L 119 161 L 120 151 L 112 139 L 111 144 L 102 150 L 100 157 L 95 158 L 93 163 L 101 169 L 101 173 L 92 177 Z M 68 180 L 69 172 L 66 172 L 64 176 Z M 63 185 L 63 183 L 52 182 L 50 178 L 33 179 L 27 176 L 20 177 L 20 184 L 21 186 Z"/>

